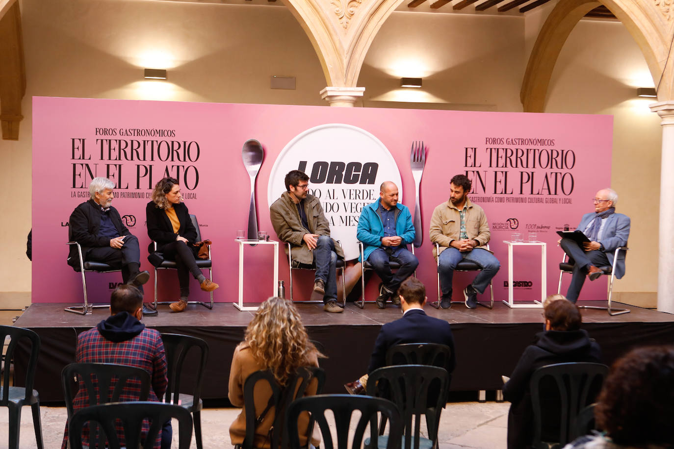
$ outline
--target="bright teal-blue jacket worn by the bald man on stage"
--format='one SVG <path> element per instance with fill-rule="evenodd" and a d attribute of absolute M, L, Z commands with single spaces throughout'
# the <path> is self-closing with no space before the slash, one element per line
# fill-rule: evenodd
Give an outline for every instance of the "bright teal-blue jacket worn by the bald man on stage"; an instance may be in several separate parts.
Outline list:
<path fill-rule="evenodd" d="M 415 240 L 415 226 L 412 224 L 412 214 L 410 209 L 400 203 L 396 204 L 398 213 L 396 214 L 396 234 L 402 238 L 401 246 L 410 244 Z M 363 207 L 361 217 L 358 220 L 358 240 L 363 242 L 363 255 L 365 260 L 377 248 L 381 247 L 381 240 L 384 237 L 384 223 L 377 213 L 379 209 L 379 199 L 372 204 Z M 358 258 L 359 262 L 361 258 Z"/>

